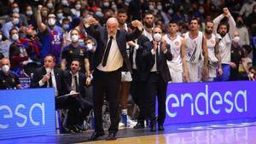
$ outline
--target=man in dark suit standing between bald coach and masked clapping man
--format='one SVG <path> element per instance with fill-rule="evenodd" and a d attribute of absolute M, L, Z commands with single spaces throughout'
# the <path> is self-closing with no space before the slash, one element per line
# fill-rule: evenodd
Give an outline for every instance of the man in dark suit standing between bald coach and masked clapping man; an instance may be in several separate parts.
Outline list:
<path fill-rule="evenodd" d="M 135 31 L 133 26 L 130 26 L 128 29 L 130 32 Z M 133 101 L 139 107 L 139 116 L 137 118 L 137 124 L 133 127 L 134 129 L 144 128 L 144 119 L 145 119 L 145 105 L 143 96 L 143 89 L 145 81 L 142 80 L 143 77 L 143 68 L 145 62 L 143 61 L 143 49 L 146 49 L 146 45 L 149 42 L 148 37 L 143 35 L 137 37 L 137 39 L 128 42 L 130 46 L 130 62 L 132 67 L 132 81 L 131 81 L 131 95 Z"/>

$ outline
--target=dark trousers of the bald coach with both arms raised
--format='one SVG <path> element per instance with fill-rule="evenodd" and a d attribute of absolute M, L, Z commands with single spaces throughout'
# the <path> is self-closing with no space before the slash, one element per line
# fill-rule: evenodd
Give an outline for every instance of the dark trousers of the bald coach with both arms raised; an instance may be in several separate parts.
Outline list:
<path fill-rule="evenodd" d="M 93 110 L 95 114 L 95 130 L 102 132 L 102 105 L 104 95 L 109 101 L 109 112 L 111 125 L 108 129 L 110 133 L 116 133 L 119 129 L 119 86 L 121 84 L 121 71 L 102 72 L 95 70 L 93 72 Z"/>

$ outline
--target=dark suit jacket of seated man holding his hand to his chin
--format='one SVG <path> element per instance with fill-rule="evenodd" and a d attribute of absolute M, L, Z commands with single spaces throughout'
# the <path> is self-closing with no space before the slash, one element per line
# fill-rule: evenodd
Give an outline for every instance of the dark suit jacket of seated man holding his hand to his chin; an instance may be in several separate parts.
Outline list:
<path fill-rule="evenodd" d="M 56 81 L 56 86 L 58 90 L 58 96 L 61 95 L 66 95 L 69 93 L 69 90 L 67 89 L 67 84 L 65 84 L 65 78 L 64 78 L 64 73 L 60 68 L 54 68 L 54 73 L 55 73 L 55 81 Z M 32 82 L 30 87 L 31 88 L 46 88 L 47 83 L 42 85 L 41 87 L 39 86 L 39 81 L 44 77 L 46 74 L 45 67 L 39 67 L 32 76 Z"/>

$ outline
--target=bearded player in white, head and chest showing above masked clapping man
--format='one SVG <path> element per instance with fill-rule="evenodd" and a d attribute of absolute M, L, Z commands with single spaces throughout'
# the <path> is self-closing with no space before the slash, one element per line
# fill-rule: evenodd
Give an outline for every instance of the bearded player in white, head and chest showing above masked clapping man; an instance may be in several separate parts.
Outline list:
<path fill-rule="evenodd" d="M 153 40 L 152 29 L 154 27 L 154 15 L 151 13 L 146 13 L 143 18 L 144 31 L 143 35 L 148 37 L 149 41 Z"/>

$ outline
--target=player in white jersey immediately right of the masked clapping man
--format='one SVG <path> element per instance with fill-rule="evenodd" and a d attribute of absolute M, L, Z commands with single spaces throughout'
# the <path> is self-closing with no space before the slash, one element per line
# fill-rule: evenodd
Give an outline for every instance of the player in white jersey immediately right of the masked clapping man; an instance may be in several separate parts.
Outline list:
<path fill-rule="evenodd" d="M 177 34 L 178 25 L 176 21 L 170 21 L 169 33 L 163 39 L 171 45 L 172 60 L 167 60 L 167 65 L 172 77 L 172 83 L 189 82 L 188 68 L 184 52 L 184 40 Z"/>

